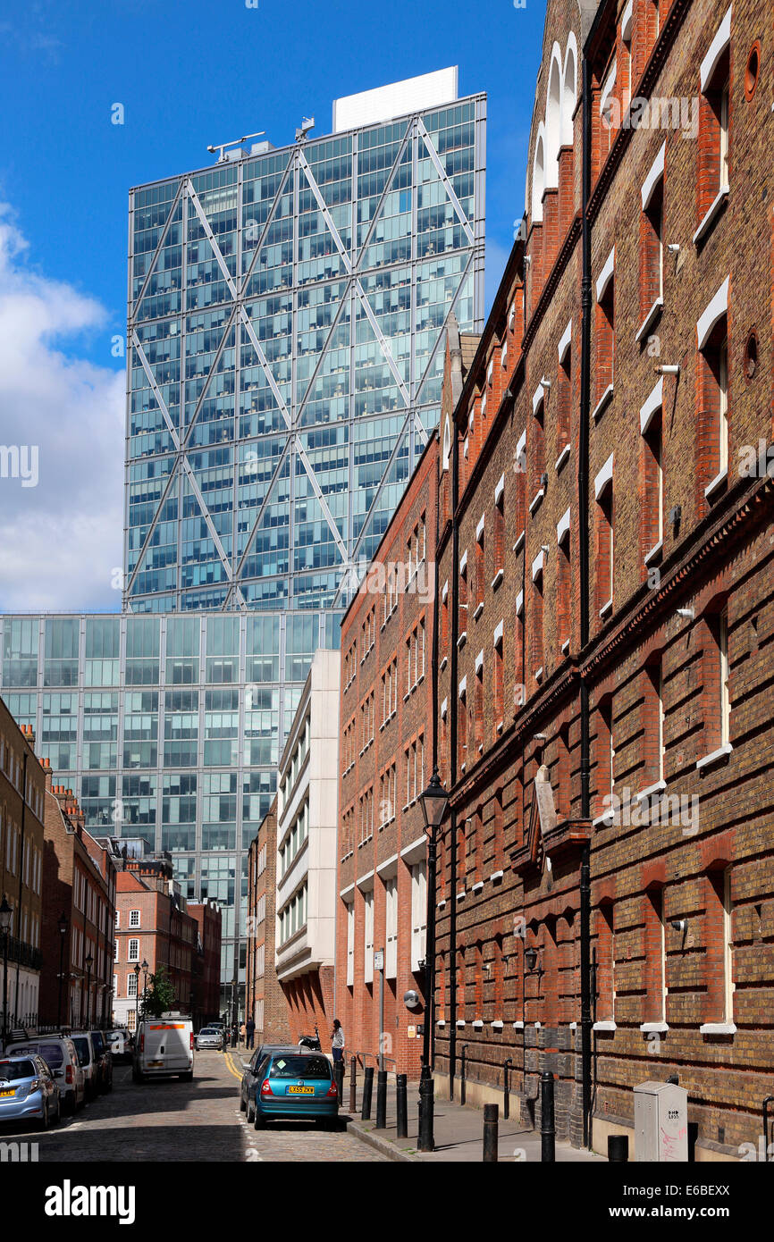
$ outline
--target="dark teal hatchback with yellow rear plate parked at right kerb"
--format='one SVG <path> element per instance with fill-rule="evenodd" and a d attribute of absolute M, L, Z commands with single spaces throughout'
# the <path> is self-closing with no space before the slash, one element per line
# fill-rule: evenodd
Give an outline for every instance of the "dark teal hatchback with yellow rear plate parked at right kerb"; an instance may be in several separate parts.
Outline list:
<path fill-rule="evenodd" d="M 339 1093 L 333 1067 L 319 1052 L 272 1052 L 256 1073 L 255 1128 L 267 1122 L 314 1119 L 333 1129 Z"/>

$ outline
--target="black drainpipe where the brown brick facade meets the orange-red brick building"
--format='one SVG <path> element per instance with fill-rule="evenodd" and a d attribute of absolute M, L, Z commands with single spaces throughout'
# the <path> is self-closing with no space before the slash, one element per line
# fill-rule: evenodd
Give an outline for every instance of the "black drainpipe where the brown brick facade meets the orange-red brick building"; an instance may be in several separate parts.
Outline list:
<path fill-rule="evenodd" d="M 457 525 L 457 502 L 460 498 L 460 436 L 452 411 L 452 450 L 451 450 L 451 660 L 450 660 L 450 715 L 451 729 L 448 733 L 448 789 L 455 787 L 457 780 L 457 712 L 460 699 L 457 698 L 457 611 L 458 611 L 458 556 L 460 556 L 460 529 Z M 448 820 L 448 845 L 451 863 L 451 882 L 448 887 L 448 1098 L 455 1098 L 455 1069 L 457 1066 L 457 812 L 451 809 Z"/>

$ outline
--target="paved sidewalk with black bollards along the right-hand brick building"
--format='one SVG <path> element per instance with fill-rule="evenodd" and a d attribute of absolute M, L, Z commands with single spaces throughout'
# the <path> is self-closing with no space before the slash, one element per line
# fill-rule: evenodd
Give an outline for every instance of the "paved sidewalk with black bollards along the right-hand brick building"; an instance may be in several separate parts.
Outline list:
<path fill-rule="evenodd" d="M 363 1086 L 362 1071 L 358 1073 L 357 1109 L 349 1107 L 349 1073 L 344 1079 L 344 1103 L 340 1117 L 352 1118 L 347 1129 L 350 1134 L 357 1134 L 364 1143 L 376 1146 L 391 1160 L 407 1161 L 452 1161 L 452 1163 L 481 1163 L 483 1154 L 483 1109 L 461 1105 L 447 1099 L 435 1100 L 435 1151 L 417 1151 L 416 1141 L 419 1133 L 419 1083 L 409 1083 L 409 1136 L 398 1139 L 395 1130 L 395 1078 L 390 1074 L 388 1079 L 388 1107 L 386 1128 L 376 1130 L 376 1078 L 374 1076 L 374 1093 L 371 1099 L 371 1117 L 369 1122 L 360 1120 Z M 513 1103 L 513 1102 L 512 1102 Z M 518 1118 L 504 1120 L 499 1117 L 498 1125 L 497 1159 L 499 1161 L 529 1161 L 540 1160 L 540 1131 L 523 1129 Z M 557 1163 L 559 1161 L 595 1161 L 606 1164 L 604 1156 L 595 1153 L 571 1148 L 568 1143 L 557 1143 Z"/>

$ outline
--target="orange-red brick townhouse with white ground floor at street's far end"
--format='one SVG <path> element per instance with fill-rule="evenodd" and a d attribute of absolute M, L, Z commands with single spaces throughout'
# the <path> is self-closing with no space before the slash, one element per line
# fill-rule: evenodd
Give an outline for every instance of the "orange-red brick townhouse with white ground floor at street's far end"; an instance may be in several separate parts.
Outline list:
<path fill-rule="evenodd" d="M 122 845 L 128 845 L 130 852 L 118 873 L 113 1009 L 116 1022 L 133 1031 L 138 990 L 142 1005 L 147 980 L 150 986 L 150 976 L 162 966 L 175 992 L 170 1007 L 191 1012 L 198 922 L 173 878 L 171 856 L 148 853 L 139 838 Z"/>

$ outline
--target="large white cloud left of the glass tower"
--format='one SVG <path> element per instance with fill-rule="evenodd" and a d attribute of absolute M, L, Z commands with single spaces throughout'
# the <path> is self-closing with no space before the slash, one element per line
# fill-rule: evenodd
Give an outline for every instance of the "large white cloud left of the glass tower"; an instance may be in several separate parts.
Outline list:
<path fill-rule="evenodd" d="M 78 334 L 102 329 L 109 339 L 107 312 L 27 267 L 27 251 L 0 204 L 0 445 L 37 446 L 39 460 L 37 486 L 0 477 L 0 609 L 114 611 L 124 373 L 77 356 Z M 11 468 L 0 457 L 0 474 Z"/>

